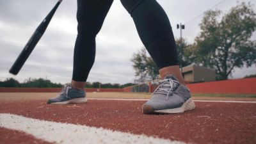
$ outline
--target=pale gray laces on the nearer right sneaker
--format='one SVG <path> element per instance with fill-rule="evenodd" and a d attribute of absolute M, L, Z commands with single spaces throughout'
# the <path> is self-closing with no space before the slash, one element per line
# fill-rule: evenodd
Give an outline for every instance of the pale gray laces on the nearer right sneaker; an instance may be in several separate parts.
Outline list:
<path fill-rule="evenodd" d="M 177 86 L 179 86 L 179 82 L 174 81 L 173 79 L 163 79 L 163 80 L 159 81 L 159 83 L 161 83 L 161 84 L 159 84 L 159 86 L 157 86 L 157 88 L 153 92 L 153 94 L 154 93 L 166 94 L 166 100 L 168 99 L 169 94 L 174 91 L 173 88 L 176 88 Z"/>

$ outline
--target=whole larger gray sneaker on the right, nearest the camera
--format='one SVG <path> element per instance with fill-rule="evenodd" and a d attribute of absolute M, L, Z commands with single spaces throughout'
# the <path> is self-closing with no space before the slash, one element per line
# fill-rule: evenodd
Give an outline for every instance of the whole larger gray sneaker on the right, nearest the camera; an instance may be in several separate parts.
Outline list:
<path fill-rule="evenodd" d="M 180 84 L 173 75 L 159 81 L 152 97 L 142 106 L 143 113 L 184 113 L 195 109 L 188 87 Z"/>

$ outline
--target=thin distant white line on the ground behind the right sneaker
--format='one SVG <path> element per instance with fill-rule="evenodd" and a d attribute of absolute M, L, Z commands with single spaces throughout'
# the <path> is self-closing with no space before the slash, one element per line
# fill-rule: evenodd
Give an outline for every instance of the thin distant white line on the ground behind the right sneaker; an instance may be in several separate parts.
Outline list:
<path fill-rule="evenodd" d="M 104 99 L 104 98 L 88 98 L 89 100 L 134 100 L 147 101 L 149 99 Z M 256 101 L 241 101 L 241 100 L 193 100 L 194 102 L 237 102 L 237 103 L 256 103 Z"/>

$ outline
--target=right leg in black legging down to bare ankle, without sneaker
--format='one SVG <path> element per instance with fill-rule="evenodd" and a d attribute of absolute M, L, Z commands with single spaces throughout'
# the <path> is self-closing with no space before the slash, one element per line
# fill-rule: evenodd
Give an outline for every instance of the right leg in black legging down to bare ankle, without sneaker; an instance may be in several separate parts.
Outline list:
<path fill-rule="evenodd" d="M 152 56 L 163 78 L 174 74 L 184 84 L 170 21 L 156 0 L 121 0 L 131 14 L 141 41 Z"/>

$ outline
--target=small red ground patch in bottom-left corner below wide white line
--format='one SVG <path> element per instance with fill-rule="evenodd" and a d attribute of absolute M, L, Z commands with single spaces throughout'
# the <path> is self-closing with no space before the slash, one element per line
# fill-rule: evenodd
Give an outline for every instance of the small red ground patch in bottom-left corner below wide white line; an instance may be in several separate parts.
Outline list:
<path fill-rule="evenodd" d="M 0 143 L 35 143 L 35 144 L 49 144 L 46 141 L 38 140 L 31 135 L 24 132 L 14 131 L 0 127 Z"/>

